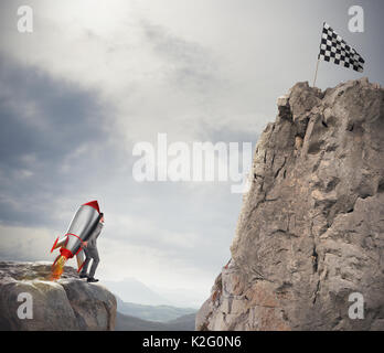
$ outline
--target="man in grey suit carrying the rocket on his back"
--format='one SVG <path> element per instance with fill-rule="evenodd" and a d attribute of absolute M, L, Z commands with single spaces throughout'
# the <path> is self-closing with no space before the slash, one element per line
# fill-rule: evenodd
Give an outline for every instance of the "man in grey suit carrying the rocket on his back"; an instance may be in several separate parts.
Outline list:
<path fill-rule="evenodd" d="M 100 220 L 96 226 L 96 229 L 90 235 L 89 239 L 83 243 L 84 253 L 85 253 L 85 261 L 84 261 L 83 269 L 79 274 L 79 278 L 87 278 L 87 282 L 98 282 L 98 279 L 95 278 L 95 271 L 99 263 L 96 240 L 102 233 L 103 226 L 104 226 L 104 214 L 100 213 Z M 87 275 L 87 269 L 88 269 L 90 259 L 93 259 L 93 263 L 90 266 L 89 275 Z"/>

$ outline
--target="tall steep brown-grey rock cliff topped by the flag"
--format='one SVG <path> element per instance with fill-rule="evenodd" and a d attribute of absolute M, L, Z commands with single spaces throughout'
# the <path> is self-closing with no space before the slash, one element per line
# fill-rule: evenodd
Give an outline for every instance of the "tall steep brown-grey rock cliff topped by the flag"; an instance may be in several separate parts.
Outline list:
<path fill-rule="evenodd" d="M 384 90 L 298 83 L 255 151 L 198 330 L 384 330 Z M 363 295 L 364 319 L 349 318 Z"/>

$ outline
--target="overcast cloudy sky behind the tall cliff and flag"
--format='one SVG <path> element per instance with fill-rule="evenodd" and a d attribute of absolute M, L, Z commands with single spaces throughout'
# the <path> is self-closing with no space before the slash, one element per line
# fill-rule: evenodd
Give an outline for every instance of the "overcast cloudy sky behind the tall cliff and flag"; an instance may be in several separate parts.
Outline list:
<path fill-rule="evenodd" d="M 21 4 L 32 33 L 18 31 Z M 364 10 L 363 33 L 349 31 L 351 6 Z M 167 133 L 255 147 L 277 98 L 312 84 L 323 21 L 366 63 L 361 74 L 320 62 L 317 86 L 383 85 L 383 10 L 381 0 L 2 0 L 0 259 L 52 260 L 77 207 L 98 200 L 98 278 L 202 302 L 231 257 L 242 194 L 231 182 L 139 183 L 134 146 Z"/>

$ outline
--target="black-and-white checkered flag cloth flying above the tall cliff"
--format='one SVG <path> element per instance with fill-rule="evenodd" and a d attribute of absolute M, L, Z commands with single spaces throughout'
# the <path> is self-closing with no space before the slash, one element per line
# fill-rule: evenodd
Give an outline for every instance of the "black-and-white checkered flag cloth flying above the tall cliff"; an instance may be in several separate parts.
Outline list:
<path fill-rule="evenodd" d="M 349 46 L 326 22 L 321 35 L 320 58 L 326 62 L 333 62 L 337 65 L 351 67 L 360 73 L 363 72 L 363 64 L 365 63 L 360 54 Z"/>

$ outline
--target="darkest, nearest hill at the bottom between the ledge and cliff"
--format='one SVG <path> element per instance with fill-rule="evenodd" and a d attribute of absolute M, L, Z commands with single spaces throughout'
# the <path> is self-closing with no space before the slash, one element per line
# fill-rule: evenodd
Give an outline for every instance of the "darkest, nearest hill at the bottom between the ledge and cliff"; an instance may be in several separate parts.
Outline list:
<path fill-rule="evenodd" d="M 194 314 L 183 315 L 169 322 L 154 322 L 127 315 L 116 314 L 116 331 L 194 331 Z"/>

